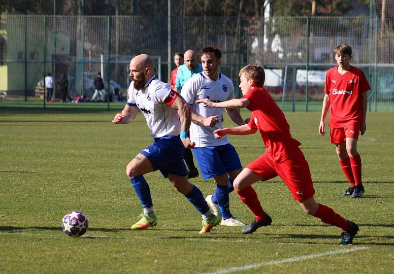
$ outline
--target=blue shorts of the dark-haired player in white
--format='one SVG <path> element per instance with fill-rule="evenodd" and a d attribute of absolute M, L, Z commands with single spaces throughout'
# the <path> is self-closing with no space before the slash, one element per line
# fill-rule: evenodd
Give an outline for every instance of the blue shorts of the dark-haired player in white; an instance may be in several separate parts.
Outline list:
<path fill-rule="evenodd" d="M 235 148 L 230 144 L 192 149 L 204 180 L 242 169 Z"/>

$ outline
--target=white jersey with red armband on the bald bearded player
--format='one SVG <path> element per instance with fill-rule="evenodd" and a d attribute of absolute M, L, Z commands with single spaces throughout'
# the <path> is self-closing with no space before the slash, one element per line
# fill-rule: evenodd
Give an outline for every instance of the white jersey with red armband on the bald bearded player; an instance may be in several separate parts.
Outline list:
<path fill-rule="evenodd" d="M 179 135 L 181 122 L 178 111 L 164 101 L 171 101 L 176 93 L 171 86 L 157 79 L 155 76 L 149 79 L 141 90 L 134 89 L 134 81 L 129 87 L 128 105 L 136 106 L 144 114 L 146 123 L 152 137 Z"/>

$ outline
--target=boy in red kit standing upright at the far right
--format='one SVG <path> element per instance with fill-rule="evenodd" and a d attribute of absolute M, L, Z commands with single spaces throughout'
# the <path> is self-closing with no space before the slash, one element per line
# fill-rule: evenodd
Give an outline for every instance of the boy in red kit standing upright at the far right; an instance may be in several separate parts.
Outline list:
<path fill-rule="evenodd" d="M 350 183 L 349 189 L 343 196 L 351 195 L 360 198 L 364 193 L 361 181 L 361 158 L 357 152 L 357 139 L 359 133 L 366 130 L 365 115 L 367 106 L 367 93 L 371 87 L 361 69 L 350 66 L 352 48 L 340 44 L 334 49 L 337 67 L 328 69 L 323 99 L 322 117 L 320 119 L 319 133 L 324 136 L 328 107 L 330 142 L 336 146 L 343 173 Z"/>

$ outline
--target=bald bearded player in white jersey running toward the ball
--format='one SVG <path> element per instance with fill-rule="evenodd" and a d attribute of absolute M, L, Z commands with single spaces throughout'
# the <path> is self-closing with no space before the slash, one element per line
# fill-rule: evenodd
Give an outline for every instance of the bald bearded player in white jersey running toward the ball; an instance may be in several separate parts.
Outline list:
<path fill-rule="evenodd" d="M 170 85 L 154 76 L 153 61 L 146 54 L 131 59 L 130 77 L 132 82 L 129 100 L 122 113 L 117 113 L 112 122 L 130 123 L 139 109 L 145 116 L 151 136 L 154 137 L 154 143 L 144 148 L 127 165 L 126 173 L 143 209 L 141 219 L 133 224 L 131 229 L 146 229 L 157 225 L 149 185 L 143 174 L 160 170 L 176 190 L 185 195 L 201 213 L 203 227 L 199 234 L 210 232 L 220 218 L 211 212 L 197 186 L 188 181 L 182 160 L 185 147 L 194 146 L 188 137 L 190 106 L 177 92 L 171 90 Z"/>

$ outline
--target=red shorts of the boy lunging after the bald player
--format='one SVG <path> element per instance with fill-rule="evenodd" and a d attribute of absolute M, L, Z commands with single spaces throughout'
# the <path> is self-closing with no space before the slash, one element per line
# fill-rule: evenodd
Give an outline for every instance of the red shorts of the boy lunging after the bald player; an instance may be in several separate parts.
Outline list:
<path fill-rule="evenodd" d="M 279 175 L 296 201 L 304 201 L 315 195 L 311 172 L 300 149 L 292 153 L 289 159 L 279 163 L 264 153 L 247 165 L 247 168 L 261 175 L 263 181 Z"/>

